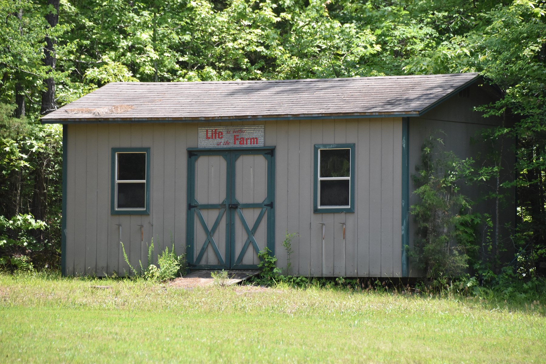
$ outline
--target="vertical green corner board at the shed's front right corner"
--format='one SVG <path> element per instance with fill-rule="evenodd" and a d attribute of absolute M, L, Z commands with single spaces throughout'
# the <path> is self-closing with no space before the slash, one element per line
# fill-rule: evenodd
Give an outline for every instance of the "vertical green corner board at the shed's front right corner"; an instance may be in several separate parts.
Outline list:
<path fill-rule="evenodd" d="M 410 246 L 410 121 L 402 118 L 402 277 L 409 276 L 409 258 L 407 249 Z"/>

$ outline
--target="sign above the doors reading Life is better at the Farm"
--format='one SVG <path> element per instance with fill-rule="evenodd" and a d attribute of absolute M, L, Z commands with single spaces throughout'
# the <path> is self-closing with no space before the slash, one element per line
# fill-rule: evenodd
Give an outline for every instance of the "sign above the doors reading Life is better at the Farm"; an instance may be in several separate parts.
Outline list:
<path fill-rule="evenodd" d="M 198 128 L 199 148 L 248 148 L 264 146 L 264 126 Z"/>

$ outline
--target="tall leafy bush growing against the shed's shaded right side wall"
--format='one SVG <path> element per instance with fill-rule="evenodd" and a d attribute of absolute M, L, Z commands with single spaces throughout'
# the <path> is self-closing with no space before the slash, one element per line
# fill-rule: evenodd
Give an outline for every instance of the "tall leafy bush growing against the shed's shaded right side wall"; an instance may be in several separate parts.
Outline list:
<path fill-rule="evenodd" d="M 442 146 L 441 138 L 425 140 L 413 175 L 420 200 L 411 206 L 417 236 L 410 254 L 426 277 L 434 279 L 460 276 L 483 244 L 473 223 L 482 222 L 481 216 L 471 213 L 470 199 L 460 192 L 473 160 L 461 160 Z"/>

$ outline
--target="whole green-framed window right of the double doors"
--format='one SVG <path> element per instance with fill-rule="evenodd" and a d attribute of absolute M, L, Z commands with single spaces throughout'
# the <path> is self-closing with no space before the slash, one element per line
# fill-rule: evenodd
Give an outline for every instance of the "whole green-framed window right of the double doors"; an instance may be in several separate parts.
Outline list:
<path fill-rule="evenodd" d="M 314 212 L 354 212 L 354 144 L 314 146 Z"/>

